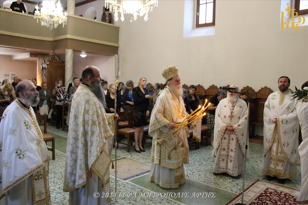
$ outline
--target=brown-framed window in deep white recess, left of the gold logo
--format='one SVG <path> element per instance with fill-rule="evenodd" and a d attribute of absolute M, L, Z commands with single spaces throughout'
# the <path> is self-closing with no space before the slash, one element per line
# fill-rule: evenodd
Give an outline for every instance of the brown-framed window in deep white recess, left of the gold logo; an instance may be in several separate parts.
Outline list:
<path fill-rule="evenodd" d="M 215 26 L 216 0 L 197 0 L 196 27 Z"/>

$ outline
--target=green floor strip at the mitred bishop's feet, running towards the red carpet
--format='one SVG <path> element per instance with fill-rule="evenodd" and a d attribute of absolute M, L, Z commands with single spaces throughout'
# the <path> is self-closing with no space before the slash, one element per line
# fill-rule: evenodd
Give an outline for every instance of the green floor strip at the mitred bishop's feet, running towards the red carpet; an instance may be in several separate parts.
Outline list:
<path fill-rule="evenodd" d="M 231 199 L 237 196 L 237 194 L 209 186 L 205 183 L 199 183 L 197 181 L 191 180 L 186 178 L 185 184 L 180 186 L 177 189 L 164 189 L 156 185 L 155 183 L 151 183 L 149 181 L 149 174 L 140 176 L 135 179 L 129 180 L 130 182 L 139 185 L 140 187 L 144 187 L 146 189 L 149 189 L 153 192 L 158 193 L 177 193 L 180 194 L 180 196 L 185 196 L 183 193 L 187 193 L 186 196 L 189 196 L 188 198 L 176 198 L 176 197 L 170 197 L 171 199 L 174 199 L 180 203 L 183 204 L 226 204 Z M 207 194 L 202 194 L 207 192 Z M 200 193 L 199 195 L 197 193 Z M 174 195 L 174 194 L 173 194 Z"/>

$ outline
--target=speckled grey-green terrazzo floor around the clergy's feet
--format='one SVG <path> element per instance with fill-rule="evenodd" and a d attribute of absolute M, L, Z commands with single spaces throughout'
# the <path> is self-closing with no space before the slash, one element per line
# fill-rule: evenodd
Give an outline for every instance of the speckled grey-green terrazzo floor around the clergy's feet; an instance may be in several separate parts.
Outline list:
<path fill-rule="evenodd" d="M 43 127 L 41 127 L 43 128 Z M 47 125 L 48 134 L 55 137 L 56 160 L 50 162 L 50 190 L 52 204 L 67 204 L 69 194 L 63 192 L 63 172 L 65 165 L 65 151 L 67 142 L 67 128 L 62 131 L 53 126 Z M 47 144 L 51 145 L 51 144 Z M 147 140 L 144 146 L 146 152 L 134 152 L 131 146 L 131 152 L 126 152 L 126 146 L 119 144 L 117 149 L 117 158 L 126 157 L 144 164 L 151 164 L 150 150 L 152 140 Z M 195 150 L 194 144 L 190 145 L 189 164 L 184 164 L 186 183 L 178 189 L 163 189 L 154 183 L 149 182 L 148 173 L 138 175 L 137 177 L 128 177 L 127 180 L 117 179 L 118 193 L 136 193 L 136 197 L 112 199 L 109 204 L 225 204 L 233 199 L 242 190 L 243 176 L 232 177 L 227 174 L 213 175 L 213 164 L 215 158 L 211 156 L 213 147 L 205 146 L 202 141 L 200 149 Z M 263 145 L 249 144 L 249 160 L 246 164 L 245 188 L 255 182 L 257 179 L 266 180 L 262 175 L 263 168 Z M 51 154 L 51 153 L 50 153 Z M 111 158 L 115 158 L 115 149 L 113 149 Z M 286 179 L 284 186 L 300 189 L 301 174 L 300 166 L 297 167 L 298 176 L 296 179 Z M 111 192 L 114 192 L 115 177 L 111 178 Z M 272 181 L 277 183 L 277 180 Z M 216 192 L 216 198 L 176 198 L 176 197 L 140 197 L 142 193 L 150 192 L 188 192 L 192 196 L 193 192 Z"/>

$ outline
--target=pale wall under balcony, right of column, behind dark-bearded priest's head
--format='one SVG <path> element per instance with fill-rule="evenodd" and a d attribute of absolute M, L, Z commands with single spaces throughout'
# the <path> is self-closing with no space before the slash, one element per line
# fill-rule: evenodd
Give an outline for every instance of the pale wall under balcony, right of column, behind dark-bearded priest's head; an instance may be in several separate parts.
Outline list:
<path fill-rule="evenodd" d="M 107 80 L 109 84 L 115 80 L 114 74 L 114 56 L 99 56 L 99 57 L 85 57 L 79 55 L 73 57 L 73 76 L 81 78 L 81 73 L 87 65 L 94 65 L 99 68 L 102 79 Z"/>

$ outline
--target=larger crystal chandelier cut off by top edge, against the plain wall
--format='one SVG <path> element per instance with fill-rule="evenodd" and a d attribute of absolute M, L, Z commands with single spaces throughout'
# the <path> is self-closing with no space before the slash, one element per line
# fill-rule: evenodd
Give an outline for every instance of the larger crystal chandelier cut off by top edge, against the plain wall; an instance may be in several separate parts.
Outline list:
<path fill-rule="evenodd" d="M 105 7 L 114 11 L 114 19 L 118 21 L 118 12 L 121 14 L 121 21 L 124 21 L 124 14 L 131 14 L 131 22 L 137 20 L 137 16 L 144 15 L 144 21 L 148 20 L 148 12 L 158 6 L 158 0 L 105 0 Z"/>

